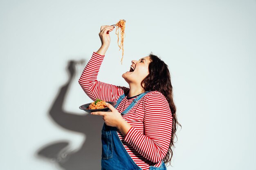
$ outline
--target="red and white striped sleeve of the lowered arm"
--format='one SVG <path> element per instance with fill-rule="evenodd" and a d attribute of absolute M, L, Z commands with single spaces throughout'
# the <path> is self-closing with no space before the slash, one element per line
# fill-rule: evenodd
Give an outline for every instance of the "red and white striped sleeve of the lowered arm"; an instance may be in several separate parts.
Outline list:
<path fill-rule="evenodd" d="M 171 110 L 159 92 L 149 94 L 145 100 L 144 134 L 132 127 L 124 140 L 143 157 L 157 163 L 165 157 L 171 141 Z"/>

